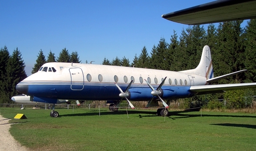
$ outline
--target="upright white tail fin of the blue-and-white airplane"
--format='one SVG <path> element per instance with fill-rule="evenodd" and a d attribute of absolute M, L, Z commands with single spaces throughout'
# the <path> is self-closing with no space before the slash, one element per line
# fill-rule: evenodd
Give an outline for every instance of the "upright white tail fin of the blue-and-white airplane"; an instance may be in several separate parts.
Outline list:
<path fill-rule="evenodd" d="M 204 46 L 202 50 L 202 56 L 200 63 L 195 69 L 192 70 L 184 70 L 180 71 L 183 73 L 188 73 L 188 74 L 196 74 L 196 75 L 201 75 L 206 77 L 207 79 L 211 79 L 214 77 L 213 75 L 213 67 L 212 67 L 212 57 L 210 54 L 210 48 L 209 46 Z"/>

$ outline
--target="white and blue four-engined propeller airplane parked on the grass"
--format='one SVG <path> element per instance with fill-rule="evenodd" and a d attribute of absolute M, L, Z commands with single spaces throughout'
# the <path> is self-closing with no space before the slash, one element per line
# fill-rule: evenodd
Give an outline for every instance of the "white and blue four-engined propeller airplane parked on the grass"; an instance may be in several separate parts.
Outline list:
<path fill-rule="evenodd" d="M 16 90 L 29 95 L 30 101 L 56 104 L 58 99 L 68 100 L 111 100 L 110 110 L 117 111 L 122 99 L 148 101 L 147 107 L 158 106 L 157 114 L 168 115 L 168 104 L 164 100 L 187 98 L 194 95 L 220 93 L 228 90 L 256 87 L 256 83 L 210 85 L 226 77 L 245 72 L 241 70 L 214 77 L 210 48 L 204 46 L 199 65 L 192 70 L 180 72 L 107 66 L 97 64 L 77 64 L 50 62 L 27 77 Z M 52 117 L 58 117 L 54 110 Z"/>

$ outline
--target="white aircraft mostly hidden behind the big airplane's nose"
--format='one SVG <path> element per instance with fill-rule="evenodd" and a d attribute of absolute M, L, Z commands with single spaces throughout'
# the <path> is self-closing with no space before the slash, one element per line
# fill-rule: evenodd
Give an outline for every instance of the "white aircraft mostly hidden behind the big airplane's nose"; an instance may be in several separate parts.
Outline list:
<path fill-rule="evenodd" d="M 41 102 L 34 102 L 34 101 L 30 101 L 30 96 L 28 95 L 15 95 L 13 96 L 12 98 L 12 101 L 14 101 L 15 103 L 18 103 L 18 104 L 33 104 L 35 105 L 35 107 L 39 107 L 39 105 L 45 105 L 46 103 L 41 103 Z M 56 104 L 60 104 L 60 103 L 67 103 L 69 104 L 69 100 L 60 100 L 58 99 Z M 52 106 L 48 106 L 48 109 L 52 109 Z"/>

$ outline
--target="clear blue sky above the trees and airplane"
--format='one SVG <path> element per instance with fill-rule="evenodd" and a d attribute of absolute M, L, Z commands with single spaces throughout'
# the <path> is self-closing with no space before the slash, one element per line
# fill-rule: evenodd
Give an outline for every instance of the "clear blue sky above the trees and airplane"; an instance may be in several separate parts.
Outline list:
<path fill-rule="evenodd" d="M 59 56 L 63 48 L 80 60 L 101 64 L 125 56 L 133 61 L 143 46 L 150 54 L 161 37 L 169 43 L 187 25 L 162 14 L 213 0 L 1 0 L 0 47 L 18 47 L 31 75 L 40 49 Z M 207 26 L 207 25 L 204 25 Z"/>

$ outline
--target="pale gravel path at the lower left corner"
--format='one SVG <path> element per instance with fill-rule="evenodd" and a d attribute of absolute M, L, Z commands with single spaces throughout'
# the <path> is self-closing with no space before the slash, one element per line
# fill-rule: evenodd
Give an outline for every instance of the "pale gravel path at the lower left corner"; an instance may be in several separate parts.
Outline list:
<path fill-rule="evenodd" d="M 11 136 L 9 120 L 0 115 L 0 151 L 29 151 Z"/>

